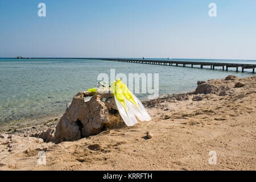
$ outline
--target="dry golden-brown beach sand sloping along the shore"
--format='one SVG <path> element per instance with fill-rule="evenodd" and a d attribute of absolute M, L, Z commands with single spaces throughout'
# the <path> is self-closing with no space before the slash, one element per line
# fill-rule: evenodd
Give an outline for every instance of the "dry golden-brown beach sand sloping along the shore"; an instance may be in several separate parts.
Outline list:
<path fill-rule="evenodd" d="M 2 130 L 0 169 L 256 169 L 256 76 L 199 81 L 195 92 L 166 95 L 143 104 L 151 121 L 105 130 L 75 142 L 55 144 L 28 137 L 55 127 L 59 118 L 15 131 Z M 152 138 L 146 137 L 147 132 Z M 42 150 L 46 151 L 46 165 L 38 164 Z M 217 153 L 216 165 L 208 163 L 210 151 Z"/>

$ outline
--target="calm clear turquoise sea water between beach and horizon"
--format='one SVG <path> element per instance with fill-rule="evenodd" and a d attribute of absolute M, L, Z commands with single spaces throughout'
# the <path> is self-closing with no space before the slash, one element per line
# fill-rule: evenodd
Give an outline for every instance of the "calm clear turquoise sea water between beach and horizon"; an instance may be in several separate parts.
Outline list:
<path fill-rule="evenodd" d="M 256 61 L 245 60 L 194 61 L 256 64 Z M 222 71 L 221 67 L 216 71 L 101 60 L 0 59 L 0 123 L 64 113 L 66 104 L 77 92 L 95 87 L 98 74 L 107 73 L 110 76 L 110 69 L 113 68 L 115 75 L 159 73 L 160 95 L 194 90 L 198 80 L 255 75 L 250 73 L 251 69 L 237 73 Z M 135 95 L 141 100 L 147 99 L 147 94 Z"/>

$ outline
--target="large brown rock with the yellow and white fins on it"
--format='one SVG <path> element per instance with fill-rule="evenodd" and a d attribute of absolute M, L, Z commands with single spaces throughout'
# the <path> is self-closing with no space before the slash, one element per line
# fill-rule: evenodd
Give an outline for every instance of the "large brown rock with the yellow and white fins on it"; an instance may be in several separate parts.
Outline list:
<path fill-rule="evenodd" d="M 85 102 L 85 97 L 92 97 Z M 112 93 L 79 92 L 56 126 L 55 143 L 74 141 L 100 133 L 104 126 L 123 123 Z"/>

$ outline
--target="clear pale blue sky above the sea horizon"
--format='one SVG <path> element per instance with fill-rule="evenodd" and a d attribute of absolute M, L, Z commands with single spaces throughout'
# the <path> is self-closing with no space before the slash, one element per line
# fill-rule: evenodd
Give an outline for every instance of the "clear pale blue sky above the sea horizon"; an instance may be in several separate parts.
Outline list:
<path fill-rule="evenodd" d="M 0 57 L 256 60 L 255 0 L 0 0 L 0 23 Z"/>

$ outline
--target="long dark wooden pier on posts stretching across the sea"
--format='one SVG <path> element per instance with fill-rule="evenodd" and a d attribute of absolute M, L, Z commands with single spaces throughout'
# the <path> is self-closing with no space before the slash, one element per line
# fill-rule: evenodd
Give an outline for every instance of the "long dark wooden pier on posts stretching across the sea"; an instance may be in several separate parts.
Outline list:
<path fill-rule="evenodd" d="M 24 58 L 23 58 L 24 59 Z M 187 65 L 193 68 L 194 65 L 200 65 L 203 69 L 205 66 L 209 66 L 210 69 L 215 69 L 216 67 L 222 67 L 222 71 L 228 71 L 228 68 L 238 68 L 242 69 L 252 69 L 255 73 L 256 64 L 239 64 L 239 63 L 213 63 L 213 62 L 200 62 L 200 61 L 175 61 L 175 60 L 150 60 L 150 59 L 118 59 L 118 58 L 89 58 L 89 57 L 31 57 L 30 59 L 94 59 L 94 60 L 105 60 L 105 61 L 118 61 L 126 63 L 140 63 L 140 64 L 156 64 L 156 65 L 167 65 L 167 66 L 183 66 Z"/>

